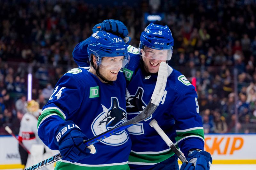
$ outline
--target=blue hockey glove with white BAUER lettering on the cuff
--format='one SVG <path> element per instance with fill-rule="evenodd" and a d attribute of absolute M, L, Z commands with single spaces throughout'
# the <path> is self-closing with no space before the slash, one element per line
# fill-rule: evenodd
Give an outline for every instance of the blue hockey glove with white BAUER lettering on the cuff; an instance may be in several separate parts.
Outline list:
<path fill-rule="evenodd" d="M 83 143 L 87 137 L 74 122 L 61 123 L 58 129 L 54 142 L 59 146 L 62 159 L 76 162 L 90 156 L 90 149 Z"/>

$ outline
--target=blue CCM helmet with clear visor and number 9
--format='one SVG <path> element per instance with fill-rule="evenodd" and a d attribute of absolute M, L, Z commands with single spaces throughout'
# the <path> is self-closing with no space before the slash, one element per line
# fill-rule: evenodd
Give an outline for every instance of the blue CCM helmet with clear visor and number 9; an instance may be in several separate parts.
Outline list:
<path fill-rule="evenodd" d="M 139 52 L 143 57 L 169 61 L 172 57 L 173 44 L 172 32 L 168 26 L 150 23 L 140 35 Z M 161 54 L 163 56 L 154 52 L 147 55 L 145 54 L 145 47 L 156 50 L 166 50 L 167 53 L 164 55 L 165 53 L 162 52 Z"/>

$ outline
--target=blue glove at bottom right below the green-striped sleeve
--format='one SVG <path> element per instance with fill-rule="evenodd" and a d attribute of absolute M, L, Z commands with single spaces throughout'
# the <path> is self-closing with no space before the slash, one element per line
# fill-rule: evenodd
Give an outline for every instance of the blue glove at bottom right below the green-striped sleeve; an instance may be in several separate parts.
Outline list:
<path fill-rule="evenodd" d="M 183 163 L 180 170 L 209 170 L 212 164 L 211 154 L 206 151 L 192 150 L 187 159 L 189 163 Z"/>

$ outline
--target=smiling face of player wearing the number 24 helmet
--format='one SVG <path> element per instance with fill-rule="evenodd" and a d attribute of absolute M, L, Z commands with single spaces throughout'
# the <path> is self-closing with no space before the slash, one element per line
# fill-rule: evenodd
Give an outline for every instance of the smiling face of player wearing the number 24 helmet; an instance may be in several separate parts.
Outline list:
<path fill-rule="evenodd" d="M 123 65 L 123 59 L 124 56 L 103 57 L 99 68 L 100 76 L 108 81 L 116 81 L 117 74 Z"/>

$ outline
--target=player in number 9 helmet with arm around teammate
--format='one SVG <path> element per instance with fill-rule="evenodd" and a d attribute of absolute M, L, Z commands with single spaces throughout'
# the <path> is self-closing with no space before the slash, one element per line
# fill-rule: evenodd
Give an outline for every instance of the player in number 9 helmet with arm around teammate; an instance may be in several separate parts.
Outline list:
<path fill-rule="evenodd" d="M 118 26 L 122 25 L 122 26 Z M 101 27 L 101 28 L 100 28 Z M 105 20 L 94 27 L 123 34 L 123 23 Z M 120 29 L 119 29 L 120 28 Z M 76 46 L 73 57 L 79 66 L 86 62 L 83 50 L 86 40 Z M 127 80 L 126 109 L 128 119 L 139 114 L 150 100 L 150 94 L 156 84 L 156 73 L 162 61 L 172 56 L 173 38 L 168 26 L 150 24 L 141 33 L 139 49 L 128 47 L 131 60 L 124 76 Z M 83 61 L 83 62 L 81 62 Z M 164 143 L 149 122 L 156 119 L 159 126 L 184 153 L 190 163 L 183 163 L 184 170 L 208 170 L 212 163 L 211 155 L 204 149 L 204 131 L 195 88 L 179 71 L 169 67 L 169 77 L 162 102 L 155 113 L 131 128 L 132 152 L 129 157 L 131 169 L 179 169 L 177 156 Z"/>

